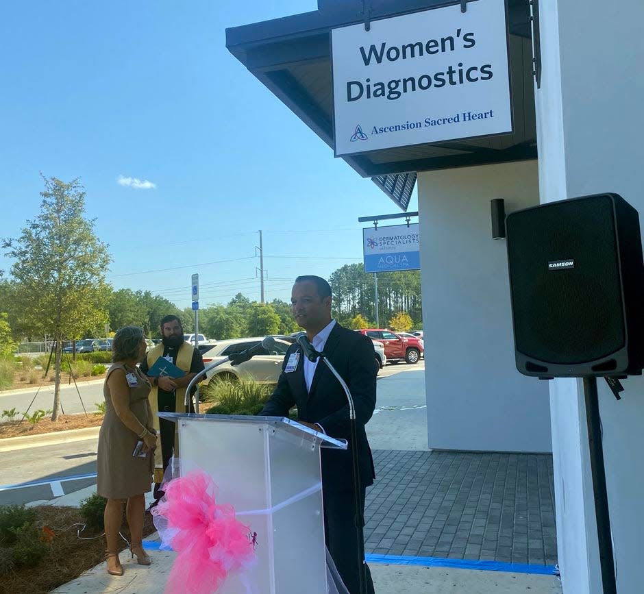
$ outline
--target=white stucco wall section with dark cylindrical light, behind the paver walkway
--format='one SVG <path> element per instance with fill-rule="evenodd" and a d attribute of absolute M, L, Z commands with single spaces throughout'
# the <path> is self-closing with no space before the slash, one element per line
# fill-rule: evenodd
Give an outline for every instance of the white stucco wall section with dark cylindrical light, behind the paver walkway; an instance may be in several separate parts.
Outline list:
<path fill-rule="evenodd" d="M 551 451 L 547 382 L 515 367 L 506 214 L 538 203 L 534 161 L 419 173 L 430 448 Z"/>

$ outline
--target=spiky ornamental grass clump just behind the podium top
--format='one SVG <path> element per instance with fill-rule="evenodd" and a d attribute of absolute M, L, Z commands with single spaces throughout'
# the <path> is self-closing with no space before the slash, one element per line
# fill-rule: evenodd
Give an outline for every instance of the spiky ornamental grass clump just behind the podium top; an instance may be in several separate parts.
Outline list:
<path fill-rule="evenodd" d="M 273 386 L 240 378 L 234 382 L 216 376 L 203 388 L 203 401 L 212 402 L 209 414 L 258 414 L 273 392 Z"/>

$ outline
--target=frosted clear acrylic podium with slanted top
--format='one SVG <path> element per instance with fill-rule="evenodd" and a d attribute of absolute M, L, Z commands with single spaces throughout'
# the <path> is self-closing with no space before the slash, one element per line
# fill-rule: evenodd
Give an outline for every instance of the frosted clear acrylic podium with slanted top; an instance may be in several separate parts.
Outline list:
<path fill-rule="evenodd" d="M 179 475 L 205 471 L 249 526 L 257 563 L 219 592 L 327 594 L 320 449 L 346 441 L 282 417 L 158 414 L 177 423 Z"/>

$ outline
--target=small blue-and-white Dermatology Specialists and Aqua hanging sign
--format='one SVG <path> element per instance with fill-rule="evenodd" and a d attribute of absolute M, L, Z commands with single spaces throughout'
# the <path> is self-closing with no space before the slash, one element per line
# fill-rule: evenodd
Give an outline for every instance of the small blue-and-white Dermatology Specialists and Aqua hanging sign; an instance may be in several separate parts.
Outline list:
<path fill-rule="evenodd" d="M 418 223 L 362 230 L 364 272 L 417 270 L 421 267 Z"/>

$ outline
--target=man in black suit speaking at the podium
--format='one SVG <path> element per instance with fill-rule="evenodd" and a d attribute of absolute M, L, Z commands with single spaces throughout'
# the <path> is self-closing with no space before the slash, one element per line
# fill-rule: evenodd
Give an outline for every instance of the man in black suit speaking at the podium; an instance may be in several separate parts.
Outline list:
<path fill-rule="evenodd" d="M 297 420 L 317 431 L 349 441 L 349 449 L 322 449 L 322 496 L 327 548 L 351 594 L 360 593 L 351 448 L 358 447 L 360 502 L 373 484 L 373 458 L 364 425 L 375 408 L 375 367 L 370 338 L 347 330 L 331 317 L 331 287 L 319 276 L 295 279 L 290 299 L 295 321 L 308 340 L 330 360 L 349 386 L 356 409 L 357 443 L 351 443 L 349 404 L 342 386 L 326 365 L 310 362 L 295 343 L 286 352 L 277 388 L 260 415 L 286 417 L 297 406 Z M 367 592 L 373 594 L 369 567 Z"/>

